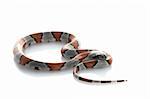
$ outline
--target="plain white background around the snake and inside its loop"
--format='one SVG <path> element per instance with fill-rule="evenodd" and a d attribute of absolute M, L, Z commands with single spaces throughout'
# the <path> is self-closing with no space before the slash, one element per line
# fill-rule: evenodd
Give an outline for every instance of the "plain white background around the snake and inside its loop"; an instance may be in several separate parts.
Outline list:
<path fill-rule="evenodd" d="M 148 0 L 1 0 L 0 99 L 150 98 L 150 3 Z M 73 33 L 81 48 L 99 49 L 113 57 L 111 68 L 91 71 L 97 79 L 127 83 L 89 85 L 72 71 L 31 72 L 13 61 L 13 46 L 30 33 Z M 51 46 L 50 46 L 51 45 Z M 27 50 L 30 57 L 61 61 L 62 45 Z"/>

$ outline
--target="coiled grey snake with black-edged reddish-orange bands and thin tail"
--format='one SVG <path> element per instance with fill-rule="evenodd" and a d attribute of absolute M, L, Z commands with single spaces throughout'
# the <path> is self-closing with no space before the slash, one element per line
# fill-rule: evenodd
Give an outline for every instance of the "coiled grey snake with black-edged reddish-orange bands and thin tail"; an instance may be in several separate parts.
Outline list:
<path fill-rule="evenodd" d="M 64 62 L 42 62 L 31 59 L 25 55 L 25 49 L 40 43 L 61 42 L 65 45 L 60 52 L 62 57 L 67 59 Z M 37 71 L 61 71 L 73 69 L 75 79 L 88 83 L 113 83 L 126 82 L 127 80 L 95 80 L 79 75 L 79 72 L 87 69 L 98 69 L 110 66 L 112 57 L 104 52 L 95 49 L 80 49 L 76 37 L 67 32 L 50 31 L 38 32 L 21 38 L 13 49 L 14 60 L 17 64 L 31 70 Z"/>

